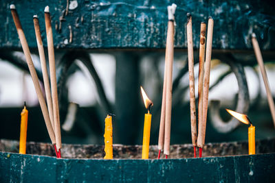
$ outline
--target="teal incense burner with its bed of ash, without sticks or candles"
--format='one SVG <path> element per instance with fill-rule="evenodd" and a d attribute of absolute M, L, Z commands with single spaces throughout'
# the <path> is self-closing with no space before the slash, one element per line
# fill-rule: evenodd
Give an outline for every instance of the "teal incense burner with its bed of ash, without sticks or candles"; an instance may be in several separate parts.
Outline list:
<path fill-rule="evenodd" d="M 113 160 L 104 160 L 102 145 L 63 145 L 54 157 L 52 145 L 28 143 L 27 154 L 17 154 L 18 141 L 0 141 L 1 182 L 274 182 L 275 138 L 248 143 L 208 143 L 206 158 L 192 157 L 192 144 L 171 145 L 170 158 L 157 160 L 157 145 L 149 160 L 141 160 L 141 145 L 113 145 Z M 163 157 L 162 157 L 163 158 Z"/>

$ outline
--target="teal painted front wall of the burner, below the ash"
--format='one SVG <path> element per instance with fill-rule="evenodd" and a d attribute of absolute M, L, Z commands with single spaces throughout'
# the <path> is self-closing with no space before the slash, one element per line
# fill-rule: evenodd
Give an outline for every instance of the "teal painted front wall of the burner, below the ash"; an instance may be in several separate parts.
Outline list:
<path fill-rule="evenodd" d="M 275 182 L 274 162 L 275 154 L 96 160 L 0 152 L 0 182 Z"/>

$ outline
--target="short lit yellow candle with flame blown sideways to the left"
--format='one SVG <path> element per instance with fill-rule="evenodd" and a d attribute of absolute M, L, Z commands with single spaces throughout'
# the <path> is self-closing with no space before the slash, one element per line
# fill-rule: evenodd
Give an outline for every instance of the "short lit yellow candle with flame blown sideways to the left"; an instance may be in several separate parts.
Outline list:
<path fill-rule="evenodd" d="M 255 127 L 252 125 L 250 119 L 245 114 L 241 114 L 239 112 L 234 112 L 233 110 L 226 109 L 229 114 L 231 114 L 234 118 L 238 119 L 242 123 L 246 125 L 250 125 L 248 127 L 248 154 L 255 154 Z"/>

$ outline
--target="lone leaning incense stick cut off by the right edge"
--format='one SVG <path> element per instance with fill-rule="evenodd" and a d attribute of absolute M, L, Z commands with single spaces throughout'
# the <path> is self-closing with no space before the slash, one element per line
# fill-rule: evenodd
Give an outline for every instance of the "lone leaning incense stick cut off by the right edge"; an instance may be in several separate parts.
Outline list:
<path fill-rule="evenodd" d="M 266 90 L 266 93 L 267 93 L 267 101 L 268 101 L 268 104 L 270 106 L 270 112 L 272 114 L 272 119 L 273 119 L 273 123 L 274 123 L 274 127 L 275 127 L 275 106 L 274 106 L 274 101 L 273 101 L 272 93 L 270 91 L 270 84 L 269 84 L 268 79 L 267 79 L 267 73 L 265 71 L 265 65 L 263 64 L 263 56 L 261 54 L 261 49 L 260 49 L 258 41 L 256 39 L 256 34 L 254 34 L 254 33 L 252 34 L 252 45 L 253 45 L 254 52 L 255 52 L 255 55 L 256 55 L 256 60 L 259 64 L 259 66 L 260 66 L 261 73 L 262 73 L 262 76 L 263 76 L 263 82 L 265 84 L 265 90 Z"/>

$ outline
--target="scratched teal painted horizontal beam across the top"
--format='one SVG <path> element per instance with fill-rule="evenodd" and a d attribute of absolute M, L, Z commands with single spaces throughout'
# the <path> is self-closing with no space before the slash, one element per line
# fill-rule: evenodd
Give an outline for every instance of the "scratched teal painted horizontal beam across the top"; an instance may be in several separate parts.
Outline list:
<path fill-rule="evenodd" d="M 193 39 L 199 47 L 201 21 L 214 19 L 214 49 L 251 49 L 256 33 L 262 49 L 275 49 L 275 12 L 269 1 L 15 1 L 31 48 L 36 48 L 32 16 L 38 14 L 46 45 L 43 10 L 50 5 L 54 46 L 78 49 L 163 49 L 166 42 L 167 5 L 177 4 L 175 47 L 186 48 L 186 13 L 192 14 Z M 9 5 L 1 1 L 0 47 L 21 49 Z M 72 27 L 72 28 L 71 28 Z"/>

